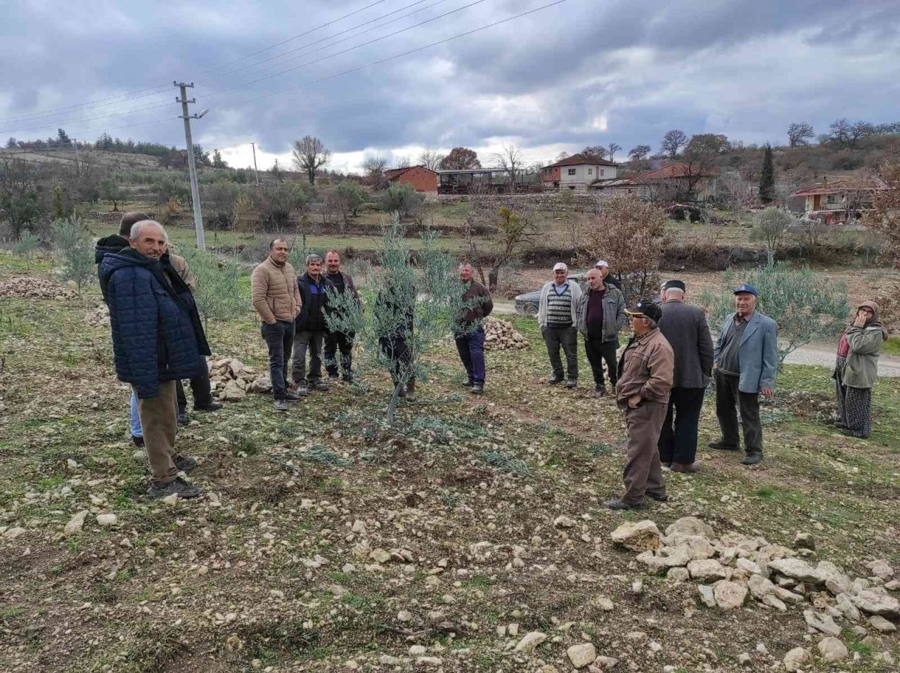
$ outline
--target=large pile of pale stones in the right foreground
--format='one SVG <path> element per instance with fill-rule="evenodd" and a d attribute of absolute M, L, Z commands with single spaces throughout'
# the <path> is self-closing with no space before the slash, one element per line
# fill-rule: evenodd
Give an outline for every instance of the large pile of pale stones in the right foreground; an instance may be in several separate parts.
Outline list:
<path fill-rule="evenodd" d="M 797 534 L 797 551 L 769 543 L 762 537 L 729 533 L 716 536 L 712 526 L 694 516 L 680 518 L 660 533 L 650 520 L 620 525 L 613 543 L 634 552 L 650 572 L 665 573 L 671 581 L 694 580 L 705 606 L 735 610 L 746 601 L 787 612 L 803 610 L 809 628 L 837 637 L 835 621 L 856 624 L 868 619 L 881 633 L 897 630 L 900 579 L 887 561 L 871 561 L 871 575 L 851 579 L 830 561 L 815 566 L 798 556 L 815 553 L 809 534 Z M 802 553 L 801 553 L 802 552 Z"/>

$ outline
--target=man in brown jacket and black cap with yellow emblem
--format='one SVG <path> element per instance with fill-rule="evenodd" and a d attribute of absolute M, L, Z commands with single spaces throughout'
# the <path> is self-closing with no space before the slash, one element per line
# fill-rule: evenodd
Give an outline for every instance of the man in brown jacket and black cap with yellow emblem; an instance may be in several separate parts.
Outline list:
<path fill-rule="evenodd" d="M 625 494 L 608 500 L 610 509 L 644 507 L 644 497 L 665 502 L 666 485 L 656 443 L 669 406 L 675 356 L 660 332 L 662 309 L 642 300 L 626 310 L 635 336 L 626 346 L 618 364 L 616 401 L 625 409 L 626 466 Z"/>

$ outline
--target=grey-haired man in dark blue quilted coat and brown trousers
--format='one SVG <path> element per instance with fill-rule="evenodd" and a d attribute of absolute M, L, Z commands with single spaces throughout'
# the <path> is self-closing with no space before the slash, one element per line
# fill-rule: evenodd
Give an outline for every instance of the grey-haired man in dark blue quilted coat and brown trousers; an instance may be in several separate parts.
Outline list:
<path fill-rule="evenodd" d="M 152 473 L 153 498 L 194 498 L 200 489 L 178 476 L 197 462 L 175 453 L 175 381 L 202 373 L 209 345 L 190 291 L 160 264 L 166 229 L 153 220 L 136 223 L 129 246 L 103 256 L 100 287 L 110 308 L 116 375 L 138 396 L 138 414 Z"/>

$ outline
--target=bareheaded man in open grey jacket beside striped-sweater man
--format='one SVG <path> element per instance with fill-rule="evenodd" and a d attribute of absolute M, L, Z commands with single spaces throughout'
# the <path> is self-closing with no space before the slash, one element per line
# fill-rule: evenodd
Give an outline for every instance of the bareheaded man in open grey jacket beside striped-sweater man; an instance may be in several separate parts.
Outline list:
<path fill-rule="evenodd" d="M 581 294 L 575 312 L 575 327 L 584 337 L 584 351 L 588 354 L 591 372 L 594 374 L 594 397 L 607 394 L 603 379 L 603 361 L 607 363 L 609 383 L 616 388 L 616 351 L 618 333 L 625 327 L 625 297 L 615 285 L 603 282 L 599 268 L 588 272 L 588 288 Z"/>

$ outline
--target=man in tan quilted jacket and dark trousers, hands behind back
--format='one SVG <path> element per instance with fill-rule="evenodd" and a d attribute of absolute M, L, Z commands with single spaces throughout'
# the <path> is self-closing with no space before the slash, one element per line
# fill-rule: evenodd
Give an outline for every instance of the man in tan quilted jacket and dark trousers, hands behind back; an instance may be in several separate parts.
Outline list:
<path fill-rule="evenodd" d="M 287 411 L 288 402 L 296 402 L 300 395 L 287 390 L 287 363 L 293 346 L 293 321 L 300 313 L 300 290 L 295 281 L 293 266 L 287 261 L 290 246 L 283 238 L 269 244 L 266 261 L 253 270 L 250 288 L 253 308 L 263 324 L 263 339 L 269 348 L 269 376 L 275 410 Z"/>

